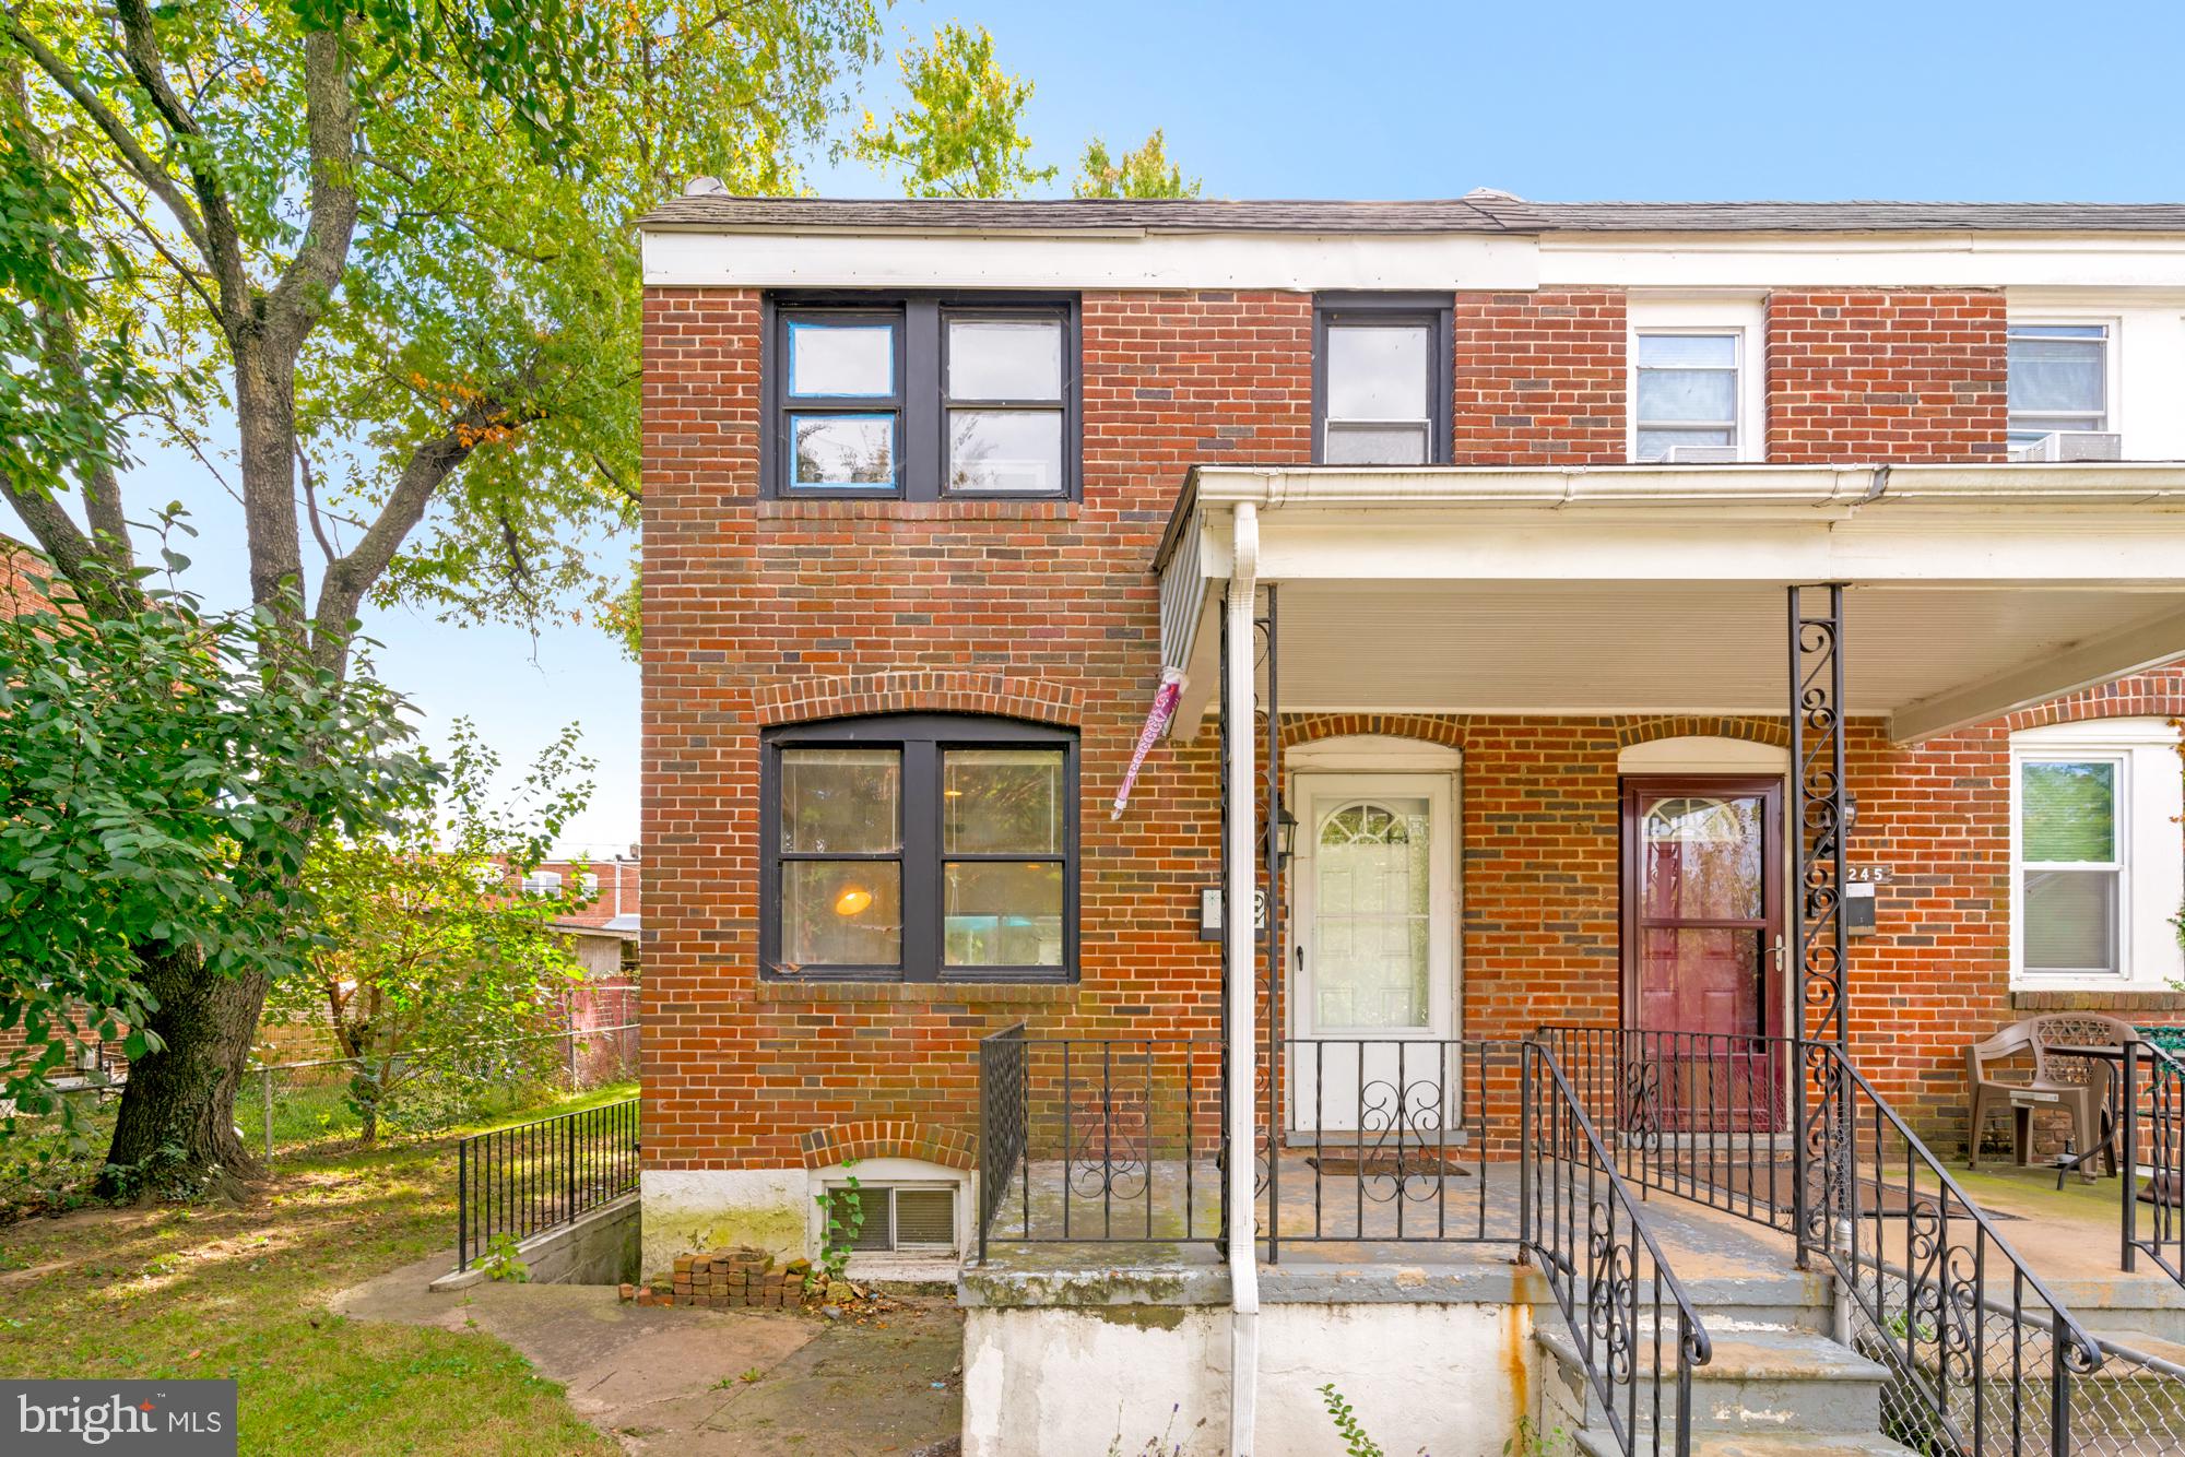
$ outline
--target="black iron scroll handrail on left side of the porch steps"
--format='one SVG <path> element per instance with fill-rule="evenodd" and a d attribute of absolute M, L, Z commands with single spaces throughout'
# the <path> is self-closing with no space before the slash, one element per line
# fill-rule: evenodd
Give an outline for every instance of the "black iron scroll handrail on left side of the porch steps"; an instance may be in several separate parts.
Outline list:
<path fill-rule="evenodd" d="M 1665 1450 L 1663 1339 L 1674 1317 L 1667 1450 L 1685 1455 L 1691 1372 L 1713 1359 L 1713 1339 L 1545 1042 L 1523 1044 L 1521 1116 L 1523 1243 L 1540 1260 L 1617 1448 L 1637 1453 L 1643 1440 L 1645 1450 Z"/>

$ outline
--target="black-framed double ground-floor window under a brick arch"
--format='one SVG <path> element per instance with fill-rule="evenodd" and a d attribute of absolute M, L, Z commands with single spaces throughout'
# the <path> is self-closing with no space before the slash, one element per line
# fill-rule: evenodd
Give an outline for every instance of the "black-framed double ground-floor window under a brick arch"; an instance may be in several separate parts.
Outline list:
<path fill-rule="evenodd" d="M 1077 966 L 1077 736 L 948 714 L 771 730 L 769 976 L 1064 981 Z"/>

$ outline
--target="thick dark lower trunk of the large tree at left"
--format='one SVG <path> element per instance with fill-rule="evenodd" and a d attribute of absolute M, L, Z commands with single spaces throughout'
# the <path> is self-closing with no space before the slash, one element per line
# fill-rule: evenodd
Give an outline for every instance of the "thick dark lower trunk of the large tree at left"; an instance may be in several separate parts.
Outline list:
<path fill-rule="evenodd" d="M 258 1035 L 267 979 L 208 974 L 197 952 L 142 952 L 140 963 L 144 985 L 160 998 L 144 1027 L 166 1046 L 129 1064 L 101 1193 L 208 1184 L 234 1193 L 260 1173 L 236 1134 L 236 1088 Z"/>

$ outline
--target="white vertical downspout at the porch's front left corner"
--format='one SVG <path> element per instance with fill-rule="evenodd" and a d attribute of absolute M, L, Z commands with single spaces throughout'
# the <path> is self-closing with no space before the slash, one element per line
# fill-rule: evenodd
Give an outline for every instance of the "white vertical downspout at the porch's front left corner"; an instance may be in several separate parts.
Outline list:
<path fill-rule="evenodd" d="M 1259 1234 L 1252 1223 L 1252 1184 L 1259 1140 L 1252 1129 L 1254 976 L 1259 939 L 1252 931 L 1256 883 L 1259 793 L 1252 727 L 1252 594 L 1259 585 L 1259 509 L 1237 502 L 1235 557 L 1228 581 L 1228 845 L 1230 904 L 1221 907 L 1228 937 L 1228 1263 L 1230 1263 L 1230 1457 L 1252 1457 L 1259 1415 Z"/>

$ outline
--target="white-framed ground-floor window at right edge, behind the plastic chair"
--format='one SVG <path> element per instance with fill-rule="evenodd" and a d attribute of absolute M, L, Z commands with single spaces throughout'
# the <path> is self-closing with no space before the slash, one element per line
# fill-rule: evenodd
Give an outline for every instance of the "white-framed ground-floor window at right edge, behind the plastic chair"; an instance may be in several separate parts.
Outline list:
<path fill-rule="evenodd" d="M 2161 719 L 2010 738 L 2012 970 L 2021 985 L 2150 985 L 2185 970 L 2185 771 Z"/>

